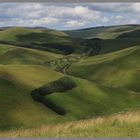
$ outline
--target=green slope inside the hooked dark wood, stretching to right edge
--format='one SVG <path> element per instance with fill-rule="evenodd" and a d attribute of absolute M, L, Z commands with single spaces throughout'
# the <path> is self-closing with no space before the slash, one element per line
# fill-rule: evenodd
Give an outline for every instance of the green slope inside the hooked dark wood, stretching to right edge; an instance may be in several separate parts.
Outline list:
<path fill-rule="evenodd" d="M 77 87 L 67 93 L 46 96 L 46 99 L 63 108 L 68 118 L 86 119 L 139 107 L 137 93 L 99 86 L 81 79 L 76 84 Z"/>

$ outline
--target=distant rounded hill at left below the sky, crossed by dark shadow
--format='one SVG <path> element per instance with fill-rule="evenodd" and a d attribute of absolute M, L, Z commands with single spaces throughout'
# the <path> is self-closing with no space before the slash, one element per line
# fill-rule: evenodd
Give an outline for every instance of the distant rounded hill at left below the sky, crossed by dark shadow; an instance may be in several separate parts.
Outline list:
<path fill-rule="evenodd" d="M 2 30 L 0 42 L 64 54 L 79 52 L 79 47 L 84 49 L 63 32 L 41 28 L 13 27 Z"/>

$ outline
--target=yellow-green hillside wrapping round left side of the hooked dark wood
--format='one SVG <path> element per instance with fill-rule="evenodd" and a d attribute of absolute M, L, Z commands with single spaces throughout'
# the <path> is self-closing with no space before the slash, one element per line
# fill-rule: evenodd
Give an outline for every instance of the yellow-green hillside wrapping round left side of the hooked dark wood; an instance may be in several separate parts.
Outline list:
<path fill-rule="evenodd" d="M 55 121 L 57 114 L 34 102 L 30 92 L 60 76 L 42 66 L 0 65 L 0 128 L 32 127 L 52 118 Z"/>

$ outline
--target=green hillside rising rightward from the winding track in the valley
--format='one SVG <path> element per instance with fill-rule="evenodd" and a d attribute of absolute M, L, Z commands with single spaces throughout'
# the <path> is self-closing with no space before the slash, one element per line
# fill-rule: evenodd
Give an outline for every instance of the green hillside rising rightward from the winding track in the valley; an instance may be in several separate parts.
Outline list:
<path fill-rule="evenodd" d="M 89 57 L 73 65 L 69 73 L 108 86 L 117 86 L 140 92 L 140 47 Z"/>

